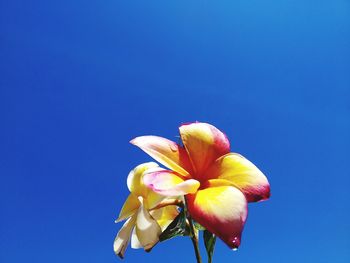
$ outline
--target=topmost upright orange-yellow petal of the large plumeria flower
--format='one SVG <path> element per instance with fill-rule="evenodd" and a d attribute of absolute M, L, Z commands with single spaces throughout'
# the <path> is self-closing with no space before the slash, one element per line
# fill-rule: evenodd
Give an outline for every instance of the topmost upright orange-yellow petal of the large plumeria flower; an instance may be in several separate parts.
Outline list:
<path fill-rule="evenodd" d="M 182 125 L 179 129 L 197 177 L 201 177 L 217 158 L 230 152 L 226 135 L 213 125 L 198 122 Z"/>

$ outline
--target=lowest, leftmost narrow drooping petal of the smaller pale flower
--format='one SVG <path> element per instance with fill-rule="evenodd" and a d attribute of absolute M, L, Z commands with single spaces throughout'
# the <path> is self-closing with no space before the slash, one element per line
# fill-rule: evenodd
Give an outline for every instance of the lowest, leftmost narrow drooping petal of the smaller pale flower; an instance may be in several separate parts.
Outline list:
<path fill-rule="evenodd" d="M 120 258 L 124 258 L 125 250 L 130 241 L 131 231 L 135 225 L 136 217 L 130 217 L 119 230 L 114 243 L 113 249 L 114 253 Z"/>

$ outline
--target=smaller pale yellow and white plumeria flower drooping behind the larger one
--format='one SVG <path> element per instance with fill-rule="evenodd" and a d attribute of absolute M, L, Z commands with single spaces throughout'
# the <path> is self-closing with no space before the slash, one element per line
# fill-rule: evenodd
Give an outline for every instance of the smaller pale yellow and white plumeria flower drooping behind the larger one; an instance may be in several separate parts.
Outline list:
<path fill-rule="evenodd" d="M 162 231 L 179 213 L 175 205 L 162 206 L 161 202 L 164 202 L 165 197 L 153 192 L 143 183 L 147 172 L 160 170 L 158 164 L 150 162 L 137 166 L 128 175 L 127 185 L 131 193 L 116 222 L 127 220 L 113 244 L 114 252 L 121 258 L 124 257 L 130 239 L 132 248 L 150 251 L 159 241 Z"/>

